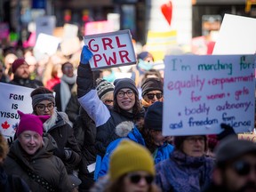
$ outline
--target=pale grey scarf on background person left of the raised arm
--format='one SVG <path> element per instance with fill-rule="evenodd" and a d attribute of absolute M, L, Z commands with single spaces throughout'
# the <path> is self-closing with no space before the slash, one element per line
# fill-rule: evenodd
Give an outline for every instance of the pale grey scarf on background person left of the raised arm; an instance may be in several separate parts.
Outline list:
<path fill-rule="evenodd" d="M 63 75 L 60 81 L 60 101 L 61 101 L 61 111 L 65 112 L 68 101 L 71 97 L 71 90 L 69 85 L 76 83 L 76 76 L 68 77 Z"/>

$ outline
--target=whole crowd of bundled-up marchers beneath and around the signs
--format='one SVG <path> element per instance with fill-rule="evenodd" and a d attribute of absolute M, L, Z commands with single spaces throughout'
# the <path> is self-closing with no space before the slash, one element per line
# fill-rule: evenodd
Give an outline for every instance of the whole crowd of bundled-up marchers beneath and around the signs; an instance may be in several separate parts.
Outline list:
<path fill-rule="evenodd" d="M 0 133 L 1 191 L 256 191 L 256 144 L 229 125 L 163 136 L 164 76 L 149 52 L 114 81 L 92 71 L 86 46 L 79 62 L 23 53 L 0 62 L 0 82 L 34 89 L 12 144 Z"/>

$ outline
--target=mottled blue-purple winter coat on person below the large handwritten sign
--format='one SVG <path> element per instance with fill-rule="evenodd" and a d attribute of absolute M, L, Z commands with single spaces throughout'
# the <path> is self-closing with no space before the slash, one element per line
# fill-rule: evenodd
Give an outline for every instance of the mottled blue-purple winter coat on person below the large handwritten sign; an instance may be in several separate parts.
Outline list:
<path fill-rule="evenodd" d="M 199 192 L 210 183 L 212 168 L 211 157 L 192 157 L 174 150 L 169 159 L 156 164 L 156 184 L 168 192 Z"/>

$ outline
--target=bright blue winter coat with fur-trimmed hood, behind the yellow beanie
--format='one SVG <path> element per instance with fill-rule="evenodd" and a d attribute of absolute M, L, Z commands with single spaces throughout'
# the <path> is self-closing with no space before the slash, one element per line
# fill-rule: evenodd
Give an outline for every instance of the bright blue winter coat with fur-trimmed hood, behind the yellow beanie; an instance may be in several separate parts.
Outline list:
<path fill-rule="evenodd" d="M 124 137 L 123 132 L 127 132 L 127 130 L 129 130 L 129 126 L 131 127 L 131 125 L 127 124 L 127 122 L 124 122 L 122 124 L 119 124 L 116 127 L 116 132 L 119 132 L 119 134 L 123 134 L 122 135 L 123 138 L 114 140 L 108 145 L 106 155 L 103 157 L 102 162 L 100 162 L 100 158 L 97 158 L 97 162 L 96 162 L 97 170 L 95 170 L 95 174 L 97 174 L 98 172 L 99 172 L 99 174 L 95 175 L 96 180 L 98 179 L 98 177 L 102 177 L 105 174 L 107 174 L 108 167 L 109 167 L 109 160 L 110 160 L 109 158 L 110 158 L 112 152 L 114 151 L 114 149 L 119 145 L 119 143 L 122 140 L 127 140 L 127 139 L 133 140 L 134 142 L 137 142 L 140 145 L 146 147 L 145 140 L 143 139 L 140 131 L 137 129 L 136 126 L 134 126 L 134 124 L 132 124 L 132 125 L 133 125 L 132 129 L 130 129 L 131 131 L 128 133 L 128 135 L 126 137 Z M 126 127 L 126 129 L 124 129 L 124 127 Z M 156 148 L 156 155 L 154 156 L 155 164 L 157 164 L 160 161 L 163 161 L 164 159 L 169 158 L 170 154 L 172 153 L 172 150 L 173 150 L 172 145 L 168 144 L 168 143 L 164 143 L 163 146 Z"/>

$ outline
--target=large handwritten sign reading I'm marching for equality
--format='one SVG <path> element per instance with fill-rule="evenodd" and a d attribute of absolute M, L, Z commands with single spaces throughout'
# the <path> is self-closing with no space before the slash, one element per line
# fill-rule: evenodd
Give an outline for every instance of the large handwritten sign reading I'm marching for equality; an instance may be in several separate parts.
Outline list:
<path fill-rule="evenodd" d="M 164 59 L 164 135 L 254 128 L 254 55 L 183 55 Z"/>

